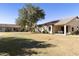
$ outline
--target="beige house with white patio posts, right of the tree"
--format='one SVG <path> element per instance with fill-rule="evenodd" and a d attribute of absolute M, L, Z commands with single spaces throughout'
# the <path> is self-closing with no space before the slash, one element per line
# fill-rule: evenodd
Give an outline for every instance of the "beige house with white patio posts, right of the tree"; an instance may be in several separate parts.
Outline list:
<path fill-rule="evenodd" d="M 40 24 L 35 29 L 36 31 L 43 32 L 46 30 L 48 33 L 54 34 L 71 34 L 74 31 L 79 30 L 79 17 L 69 17 L 52 22 Z"/>

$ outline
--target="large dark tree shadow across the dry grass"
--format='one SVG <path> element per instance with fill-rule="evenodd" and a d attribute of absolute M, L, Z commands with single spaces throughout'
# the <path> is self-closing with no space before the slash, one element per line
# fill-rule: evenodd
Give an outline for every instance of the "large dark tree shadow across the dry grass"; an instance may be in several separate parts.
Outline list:
<path fill-rule="evenodd" d="M 56 45 L 46 44 L 43 41 L 35 41 L 33 39 L 24 39 L 17 37 L 6 37 L 0 39 L 0 54 L 7 53 L 10 56 L 23 56 L 38 54 L 31 50 L 32 48 L 47 48 Z"/>

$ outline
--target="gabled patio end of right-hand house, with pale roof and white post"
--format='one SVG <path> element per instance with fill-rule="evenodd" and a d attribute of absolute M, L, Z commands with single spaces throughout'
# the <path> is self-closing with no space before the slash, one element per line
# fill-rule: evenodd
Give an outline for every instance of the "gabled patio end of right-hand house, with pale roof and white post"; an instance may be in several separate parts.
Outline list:
<path fill-rule="evenodd" d="M 69 17 L 63 18 L 56 24 L 54 24 L 54 31 L 57 34 L 71 34 L 72 32 L 77 30 L 78 26 L 78 16 L 77 17 Z"/>

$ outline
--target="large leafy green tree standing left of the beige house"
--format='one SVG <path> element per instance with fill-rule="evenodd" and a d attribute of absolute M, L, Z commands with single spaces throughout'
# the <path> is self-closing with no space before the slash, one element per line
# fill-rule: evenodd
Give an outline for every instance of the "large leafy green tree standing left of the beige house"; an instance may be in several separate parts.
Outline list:
<path fill-rule="evenodd" d="M 23 28 L 28 26 L 28 29 L 32 31 L 36 23 L 45 18 L 45 12 L 43 9 L 37 6 L 33 6 L 32 4 L 26 4 L 22 9 L 19 10 L 19 17 L 17 18 Z"/>

